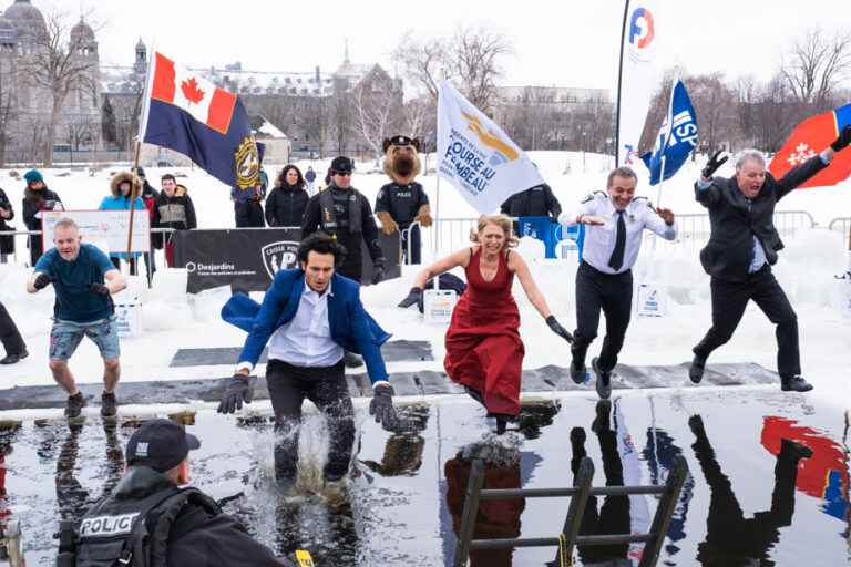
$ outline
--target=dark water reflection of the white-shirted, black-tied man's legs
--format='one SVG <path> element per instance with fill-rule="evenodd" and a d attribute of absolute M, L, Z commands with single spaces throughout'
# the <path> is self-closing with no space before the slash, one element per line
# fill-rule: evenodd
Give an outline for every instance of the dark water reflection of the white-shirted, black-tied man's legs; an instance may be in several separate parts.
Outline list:
<path fill-rule="evenodd" d="M 591 429 L 597 437 L 599 450 L 603 453 L 603 472 L 606 477 L 606 486 L 624 485 L 624 465 L 621 461 L 621 452 L 617 447 L 617 433 L 609 425 L 612 405 L 607 400 L 597 402 L 597 416 Z M 573 427 L 571 431 L 571 470 L 574 478 L 580 470 L 580 462 L 587 456 L 585 450 L 586 434 L 583 427 Z M 582 515 L 580 535 L 609 535 L 630 533 L 629 497 L 605 496 L 599 506 L 597 496 L 589 496 Z M 628 544 L 577 546 L 582 563 L 585 565 L 603 561 L 627 561 Z M 626 564 L 628 565 L 628 563 Z"/>

